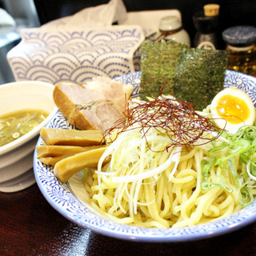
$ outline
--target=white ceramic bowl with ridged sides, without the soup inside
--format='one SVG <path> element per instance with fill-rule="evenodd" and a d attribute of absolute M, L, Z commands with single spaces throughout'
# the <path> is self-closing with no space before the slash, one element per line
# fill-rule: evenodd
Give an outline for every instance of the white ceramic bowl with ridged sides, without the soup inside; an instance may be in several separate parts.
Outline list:
<path fill-rule="evenodd" d="M 35 182 L 33 153 L 43 126 L 57 113 L 54 86 L 47 82 L 10 82 L 0 86 L 0 116 L 16 110 L 46 110 L 49 116 L 29 133 L 0 147 L 0 191 L 22 190 Z"/>

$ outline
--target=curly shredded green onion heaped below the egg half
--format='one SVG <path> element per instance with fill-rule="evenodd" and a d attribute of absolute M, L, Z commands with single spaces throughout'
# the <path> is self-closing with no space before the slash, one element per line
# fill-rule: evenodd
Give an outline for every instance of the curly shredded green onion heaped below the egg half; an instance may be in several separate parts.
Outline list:
<path fill-rule="evenodd" d="M 202 160 L 202 189 L 209 190 L 214 186 L 222 186 L 226 191 L 232 191 L 232 188 L 225 183 L 211 182 L 210 170 L 213 166 L 218 166 L 230 173 L 234 178 L 234 185 L 240 190 L 242 198 L 239 205 L 248 206 L 254 200 L 251 188 L 256 185 L 256 126 L 242 126 L 236 134 L 222 134 L 226 141 L 213 141 L 208 150 L 213 155 L 210 161 Z M 246 173 L 234 170 L 234 161 L 239 159 L 240 166 L 246 166 Z M 223 177 L 224 180 L 224 177 Z M 250 187 L 248 186 L 250 184 Z"/>

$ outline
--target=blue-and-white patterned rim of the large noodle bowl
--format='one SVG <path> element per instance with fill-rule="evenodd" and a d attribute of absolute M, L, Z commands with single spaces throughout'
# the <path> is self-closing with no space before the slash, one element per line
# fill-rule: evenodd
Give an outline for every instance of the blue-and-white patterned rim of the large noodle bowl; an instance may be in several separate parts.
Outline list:
<path fill-rule="evenodd" d="M 118 81 L 125 84 L 130 83 L 138 86 L 141 73 L 126 74 Z M 224 87 L 237 86 L 245 90 L 256 104 L 256 78 L 238 72 L 226 71 Z M 138 90 L 135 94 L 138 94 Z M 60 112 L 55 115 L 47 127 L 67 128 L 69 124 Z M 42 145 L 42 138 L 38 139 L 38 144 Z M 83 228 L 93 230 L 99 234 L 137 242 L 187 242 L 227 234 L 247 226 L 256 220 L 256 200 L 246 208 L 232 214 L 230 217 L 222 218 L 218 221 L 188 226 L 183 228 L 142 228 L 138 226 L 128 226 L 112 222 L 103 218 L 99 214 L 91 211 L 83 202 L 74 196 L 69 182 L 61 183 L 54 177 L 52 168 L 43 165 L 38 161 L 37 151 L 34 151 L 34 175 L 43 196 L 60 214 L 71 222 Z"/>

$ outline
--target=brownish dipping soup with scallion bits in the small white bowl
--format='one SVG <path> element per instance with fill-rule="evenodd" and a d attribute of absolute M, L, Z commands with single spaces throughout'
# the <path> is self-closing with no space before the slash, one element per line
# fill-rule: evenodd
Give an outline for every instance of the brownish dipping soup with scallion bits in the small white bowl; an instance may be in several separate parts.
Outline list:
<path fill-rule="evenodd" d="M 45 110 L 18 110 L 0 116 L 0 146 L 27 134 L 48 115 Z"/>

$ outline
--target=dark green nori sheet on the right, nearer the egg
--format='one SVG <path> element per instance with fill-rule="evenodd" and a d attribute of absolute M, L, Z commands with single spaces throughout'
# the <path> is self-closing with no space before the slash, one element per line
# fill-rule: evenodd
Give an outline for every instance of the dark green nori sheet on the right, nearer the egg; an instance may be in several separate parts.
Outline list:
<path fill-rule="evenodd" d="M 195 110 L 203 110 L 223 90 L 228 52 L 225 50 L 182 50 L 174 74 L 174 96 L 193 102 Z"/>

